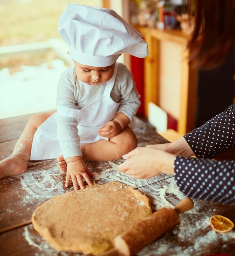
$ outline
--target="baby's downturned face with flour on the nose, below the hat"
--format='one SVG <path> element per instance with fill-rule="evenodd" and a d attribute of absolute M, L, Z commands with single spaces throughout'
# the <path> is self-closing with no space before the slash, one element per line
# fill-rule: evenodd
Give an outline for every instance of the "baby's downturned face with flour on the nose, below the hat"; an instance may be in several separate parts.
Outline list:
<path fill-rule="evenodd" d="M 82 65 L 76 61 L 73 62 L 78 79 L 84 83 L 99 85 L 100 83 L 109 81 L 113 76 L 115 63 L 108 67 L 91 67 Z"/>

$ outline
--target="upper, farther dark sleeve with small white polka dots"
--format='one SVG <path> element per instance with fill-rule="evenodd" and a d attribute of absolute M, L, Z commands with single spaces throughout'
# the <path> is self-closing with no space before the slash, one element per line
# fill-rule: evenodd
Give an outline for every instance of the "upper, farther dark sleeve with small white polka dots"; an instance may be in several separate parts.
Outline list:
<path fill-rule="evenodd" d="M 235 104 L 207 121 L 203 126 L 184 135 L 196 157 L 213 159 L 235 148 Z"/>

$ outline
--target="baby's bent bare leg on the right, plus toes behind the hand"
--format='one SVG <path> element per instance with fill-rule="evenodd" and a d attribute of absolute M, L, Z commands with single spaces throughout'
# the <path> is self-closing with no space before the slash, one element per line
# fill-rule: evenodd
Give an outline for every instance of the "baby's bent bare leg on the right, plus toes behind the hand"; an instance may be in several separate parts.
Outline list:
<path fill-rule="evenodd" d="M 137 138 L 128 126 L 109 140 L 102 139 L 95 143 L 81 145 L 83 159 L 87 161 L 112 161 L 121 158 L 137 147 Z M 61 171 L 67 170 L 63 156 L 57 158 Z"/>

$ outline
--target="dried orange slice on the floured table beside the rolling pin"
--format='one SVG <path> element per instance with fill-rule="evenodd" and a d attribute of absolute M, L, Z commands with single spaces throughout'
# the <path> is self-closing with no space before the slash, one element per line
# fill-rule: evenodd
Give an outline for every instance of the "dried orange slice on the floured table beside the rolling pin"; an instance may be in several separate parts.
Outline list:
<path fill-rule="evenodd" d="M 228 218 L 221 215 L 214 215 L 210 218 L 211 227 L 219 233 L 226 233 L 233 229 L 234 224 Z"/>

